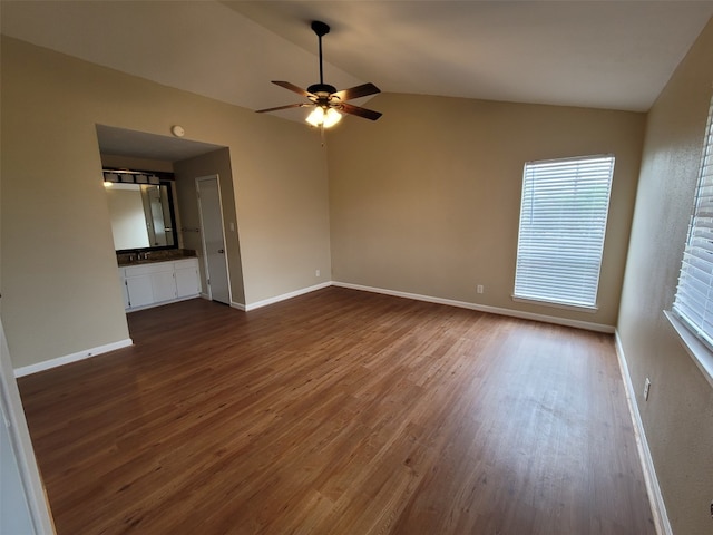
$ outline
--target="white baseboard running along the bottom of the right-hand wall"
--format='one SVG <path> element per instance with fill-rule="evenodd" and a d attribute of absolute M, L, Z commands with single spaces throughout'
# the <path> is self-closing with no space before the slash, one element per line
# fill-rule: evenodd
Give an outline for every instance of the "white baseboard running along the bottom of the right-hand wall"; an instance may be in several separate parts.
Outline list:
<path fill-rule="evenodd" d="M 626 392 L 628 411 L 632 416 L 632 422 L 634 424 L 636 447 L 638 449 L 638 457 L 642 463 L 642 470 L 644 473 L 646 492 L 648 493 L 648 503 L 651 505 L 652 516 L 654 517 L 656 533 L 658 535 L 673 535 L 671 523 L 668 522 L 668 514 L 666 513 L 666 504 L 664 503 L 664 497 L 661 494 L 661 486 L 658 485 L 658 478 L 656 477 L 654 459 L 651 456 L 651 449 L 648 449 L 648 440 L 646 440 L 644 422 L 642 421 L 642 415 L 638 412 L 638 405 L 636 403 L 636 390 L 634 390 L 632 377 L 628 373 L 626 356 L 624 354 L 624 348 L 622 346 L 622 339 L 619 338 L 618 330 L 614 333 L 614 340 L 616 341 L 616 357 L 619 362 L 622 379 L 624 380 L 624 390 Z"/>

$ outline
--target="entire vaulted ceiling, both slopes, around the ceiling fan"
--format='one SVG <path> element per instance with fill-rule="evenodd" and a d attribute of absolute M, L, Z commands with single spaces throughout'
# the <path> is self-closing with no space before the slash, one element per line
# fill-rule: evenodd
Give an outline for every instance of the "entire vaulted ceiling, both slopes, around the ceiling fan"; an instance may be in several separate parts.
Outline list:
<path fill-rule="evenodd" d="M 643 111 L 712 16 L 713 0 L 0 1 L 2 33 L 250 109 L 301 100 L 270 80 L 319 81 L 318 19 L 339 89 Z"/>

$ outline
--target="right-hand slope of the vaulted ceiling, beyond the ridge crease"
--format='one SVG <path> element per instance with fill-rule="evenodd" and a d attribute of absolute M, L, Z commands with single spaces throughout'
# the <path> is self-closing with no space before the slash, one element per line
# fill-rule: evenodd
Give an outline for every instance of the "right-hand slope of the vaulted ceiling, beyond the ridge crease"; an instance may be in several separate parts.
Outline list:
<path fill-rule="evenodd" d="M 647 110 L 713 16 L 684 1 L 225 1 L 383 91 Z"/>

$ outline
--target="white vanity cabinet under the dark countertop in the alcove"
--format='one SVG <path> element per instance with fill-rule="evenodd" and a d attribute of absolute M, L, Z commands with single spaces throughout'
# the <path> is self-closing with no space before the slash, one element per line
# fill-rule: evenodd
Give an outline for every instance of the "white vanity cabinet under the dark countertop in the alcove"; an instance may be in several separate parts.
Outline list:
<path fill-rule="evenodd" d="M 119 268 L 119 280 L 126 310 L 191 299 L 201 293 L 197 259 Z"/>

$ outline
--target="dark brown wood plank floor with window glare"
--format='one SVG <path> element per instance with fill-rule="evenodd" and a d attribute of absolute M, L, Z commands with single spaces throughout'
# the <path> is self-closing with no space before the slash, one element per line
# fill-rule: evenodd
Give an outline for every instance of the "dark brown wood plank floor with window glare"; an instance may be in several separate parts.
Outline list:
<path fill-rule="evenodd" d="M 329 288 L 19 380 L 60 535 L 654 534 L 611 335 Z"/>

